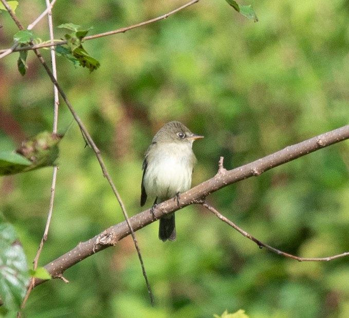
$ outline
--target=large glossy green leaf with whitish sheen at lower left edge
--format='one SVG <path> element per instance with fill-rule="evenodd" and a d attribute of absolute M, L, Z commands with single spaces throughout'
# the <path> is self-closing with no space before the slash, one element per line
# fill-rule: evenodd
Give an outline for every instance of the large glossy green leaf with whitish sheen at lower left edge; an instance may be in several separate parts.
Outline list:
<path fill-rule="evenodd" d="M 15 230 L 0 221 L 0 298 L 6 309 L 20 309 L 29 279 L 26 255 Z"/>

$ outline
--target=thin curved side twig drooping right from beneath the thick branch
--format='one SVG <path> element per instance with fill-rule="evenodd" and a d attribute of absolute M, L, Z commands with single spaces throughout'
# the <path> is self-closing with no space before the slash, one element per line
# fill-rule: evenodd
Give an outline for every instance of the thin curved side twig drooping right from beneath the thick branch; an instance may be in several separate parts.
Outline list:
<path fill-rule="evenodd" d="M 202 205 L 207 210 L 212 212 L 215 216 L 217 216 L 221 221 L 226 222 L 234 230 L 236 230 L 240 234 L 244 235 L 245 237 L 247 237 L 251 241 L 255 242 L 255 244 L 258 245 L 259 248 L 265 247 L 266 249 L 268 249 L 268 250 L 270 250 L 270 251 L 272 251 L 272 252 L 274 252 L 274 253 L 276 253 L 278 255 L 282 255 L 282 256 L 285 256 L 285 257 L 292 258 L 292 259 L 296 259 L 298 261 L 329 261 L 329 260 L 332 260 L 332 259 L 336 259 L 336 258 L 340 258 L 340 257 L 349 255 L 349 252 L 345 252 L 345 253 L 342 253 L 342 254 L 338 254 L 338 255 L 334 255 L 334 256 L 328 256 L 328 257 L 299 257 L 299 256 L 296 256 L 296 255 L 285 253 L 285 252 L 280 251 L 278 249 L 275 249 L 275 248 L 273 248 L 273 247 L 271 247 L 271 246 L 269 246 L 267 244 L 264 244 L 260 240 L 254 238 L 251 234 L 249 234 L 246 231 L 244 231 L 243 229 L 239 228 L 237 225 L 235 225 L 235 223 L 233 223 L 231 220 L 229 220 L 224 215 L 219 213 L 214 207 L 212 207 L 212 205 L 208 204 L 207 202 L 202 203 Z"/>

